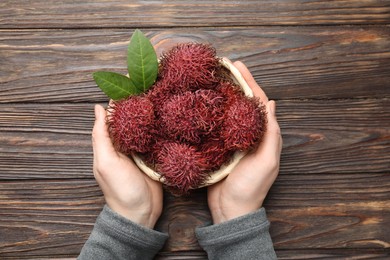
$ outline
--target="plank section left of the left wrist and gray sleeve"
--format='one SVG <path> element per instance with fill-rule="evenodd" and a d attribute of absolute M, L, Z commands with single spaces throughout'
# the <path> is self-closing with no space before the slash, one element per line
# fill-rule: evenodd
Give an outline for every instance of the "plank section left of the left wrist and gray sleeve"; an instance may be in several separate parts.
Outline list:
<path fill-rule="evenodd" d="M 103 198 L 94 181 L 0 183 L 0 256 L 75 256 Z"/>

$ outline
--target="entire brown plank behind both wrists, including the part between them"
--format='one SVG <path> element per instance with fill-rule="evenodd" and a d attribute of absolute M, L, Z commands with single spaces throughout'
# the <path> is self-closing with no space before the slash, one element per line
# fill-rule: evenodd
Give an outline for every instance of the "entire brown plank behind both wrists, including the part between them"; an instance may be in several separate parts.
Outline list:
<path fill-rule="evenodd" d="M 390 246 L 389 178 L 372 173 L 279 176 L 265 202 L 275 248 L 347 248 L 367 255 L 376 249 L 380 255 Z M 210 221 L 205 189 L 186 198 L 165 194 L 164 203 L 156 229 L 170 238 L 162 256 L 201 252 L 194 228 Z M 74 257 L 103 204 L 92 179 L 1 181 L 0 255 Z M 338 254 L 343 255 L 333 253 Z"/>

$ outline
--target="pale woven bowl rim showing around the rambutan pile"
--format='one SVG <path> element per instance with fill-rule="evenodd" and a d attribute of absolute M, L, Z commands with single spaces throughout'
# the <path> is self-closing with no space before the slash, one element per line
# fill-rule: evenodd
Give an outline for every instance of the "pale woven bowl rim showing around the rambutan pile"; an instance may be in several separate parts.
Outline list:
<path fill-rule="evenodd" d="M 238 86 L 241 87 L 241 90 L 243 91 L 245 96 L 253 98 L 254 95 L 251 88 L 249 87 L 248 83 L 241 75 L 240 71 L 232 64 L 232 62 L 227 58 L 221 58 L 219 59 L 219 62 L 223 67 L 225 67 L 228 71 L 230 71 L 232 80 Z M 236 151 L 233 154 L 233 157 L 229 163 L 223 165 L 219 170 L 210 173 L 206 181 L 198 188 L 212 185 L 224 179 L 234 169 L 234 167 L 236 167 L 236 165 L 246 155 L 246 153 L 247 151 Z M 150 168 L 149 165 L 147 165 L 137 153 L 135 152 L 131 153 L 131 157 L 133 158 L 137 166 L 151 179 L 162 183 L 166 182 L 164 177 L 160 175 L 158 172 L 156 172 L 154 169 Z"/>

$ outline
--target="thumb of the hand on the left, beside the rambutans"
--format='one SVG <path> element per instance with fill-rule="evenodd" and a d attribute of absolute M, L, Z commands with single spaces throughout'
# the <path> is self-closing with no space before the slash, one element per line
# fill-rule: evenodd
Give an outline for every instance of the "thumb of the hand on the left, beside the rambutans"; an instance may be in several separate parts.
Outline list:
<path fill-rule="evenodd" d="M 115 152 L 106 124 L 106 110 L 95 105 L 95 124 L 92 130 L 92 146 L 96 157 L 105 158 L 108 153 Z"/>

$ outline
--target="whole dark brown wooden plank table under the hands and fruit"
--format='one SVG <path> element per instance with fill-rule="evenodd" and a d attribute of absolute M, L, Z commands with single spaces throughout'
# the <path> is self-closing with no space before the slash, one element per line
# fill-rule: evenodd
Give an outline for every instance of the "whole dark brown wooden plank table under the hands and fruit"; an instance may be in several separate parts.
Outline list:
<path fill-rule="evenodd" d="M 284 145 L 265 202 L 280 259 L 390 257 L 390 2 L 0 2 L 0 259 L 75 258 L 104 200 L 92 174 L 96 70 L 210 42 L 271 99 Z M 165 194 L 158 259 L 205 259 L 206 190 Z"/>

